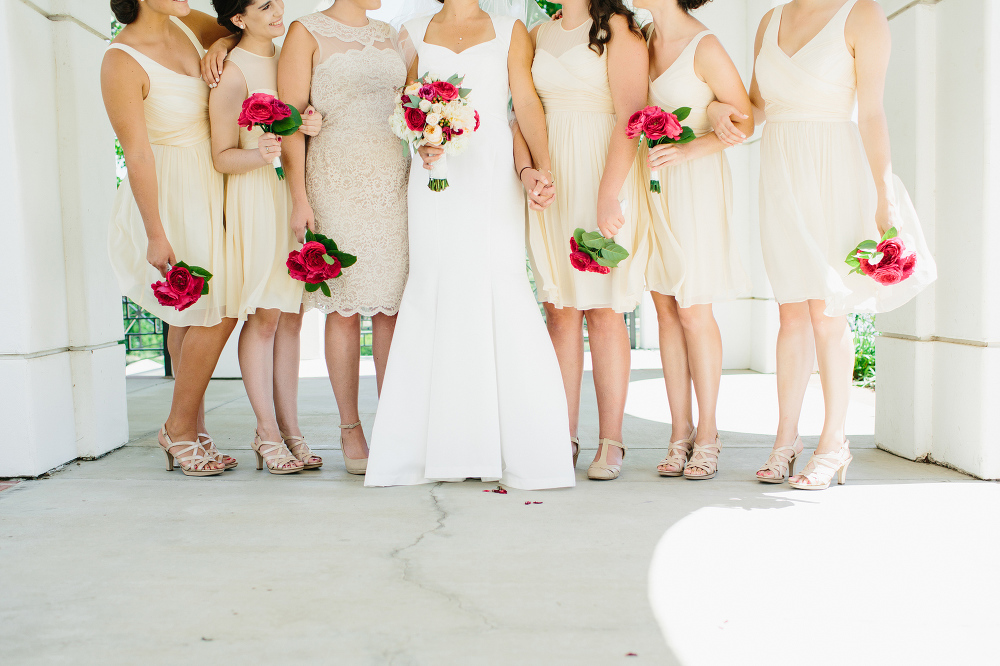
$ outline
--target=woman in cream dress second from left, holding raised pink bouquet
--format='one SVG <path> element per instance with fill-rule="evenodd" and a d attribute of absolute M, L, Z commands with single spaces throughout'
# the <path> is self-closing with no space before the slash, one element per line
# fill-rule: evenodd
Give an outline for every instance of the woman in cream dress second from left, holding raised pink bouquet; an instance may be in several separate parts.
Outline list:
<path fill-rule="evenodd" d="M 285 33 L 282 0 L 213 0 L 219 24 L 240 37 L 209 100 L 212 157 L 226 178 L 227 314 L 246 323 L 240 332 L 243 383 L 257 417 L 253 449 L 272 474 L 316 469 L 298 426 L 299 332 L 302 283 L 285 261 L 297 248 L 288 184 L 272 166 L 281 139 L 237 124 L 254 93 L 277 95 L 278 55 L 273 39 Z M 319 131 L 319 115 L 303 115 L 302 132 Z M 286 446 L 287 444 L 287 446 Z M 262 460 L 263 459 L 263 460 Z"/>

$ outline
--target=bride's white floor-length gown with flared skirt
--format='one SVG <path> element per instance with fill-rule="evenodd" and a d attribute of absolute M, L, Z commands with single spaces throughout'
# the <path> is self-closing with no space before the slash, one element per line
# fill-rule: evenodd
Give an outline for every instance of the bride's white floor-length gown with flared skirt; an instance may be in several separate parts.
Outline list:
<path fill-rule="evenodd" d="M 524 265 L 524 196 L 507 119 L 515 20 L 455 53 L 406 24 L 420 71 L 464 75 L 481 124 L 448 156 L 449 187 L 410 169 L 410 276 L 372 432 L 366 486 L 481 478 L 574 485 L 566 394 Z"/>

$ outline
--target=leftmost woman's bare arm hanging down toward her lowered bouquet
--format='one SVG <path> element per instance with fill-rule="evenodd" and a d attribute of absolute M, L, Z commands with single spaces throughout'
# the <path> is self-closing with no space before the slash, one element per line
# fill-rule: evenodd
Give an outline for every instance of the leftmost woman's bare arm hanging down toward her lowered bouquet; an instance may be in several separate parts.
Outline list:
<path fill-rule="evenodd" d="M 125 154 L 129 186 L 146 229 L 146 261 L 166 275 L 177 258 L 160 220 L 156 162 L 142 104 L 148 92 L 149 78 L 139 63 L 118 49 L 109 49 L 101 64 L 104 106 Z"/>

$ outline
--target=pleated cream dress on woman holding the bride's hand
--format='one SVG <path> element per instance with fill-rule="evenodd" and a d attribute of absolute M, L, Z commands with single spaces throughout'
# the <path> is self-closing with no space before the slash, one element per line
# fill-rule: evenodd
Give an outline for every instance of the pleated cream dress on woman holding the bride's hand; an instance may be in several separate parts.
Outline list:
<path fill-rule="evenodd" d="M 573 230 L 597 230 L 597 191 L 617 121 L 608 52 L 597 55 L 590 48 L 592 24 L 588 19 L 564 30 L 558 19 L 542 23 L 536 33 L 531 74 L 545 108 L 556 199 L 544 211 L 528 211 L 528 253 L 539 299 L 559 308 L 631 312 L 642 298 L 648 255 L 638 154 L 618 197 L 625 225 L 615 242 L 629 257 L 608 275 L 584 273 L 569 262 Z"/>

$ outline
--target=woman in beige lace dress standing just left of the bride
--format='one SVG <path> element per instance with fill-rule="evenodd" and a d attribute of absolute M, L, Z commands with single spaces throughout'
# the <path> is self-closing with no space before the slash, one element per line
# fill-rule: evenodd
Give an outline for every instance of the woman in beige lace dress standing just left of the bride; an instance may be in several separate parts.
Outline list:
<path fill-rule="evenodd" d="M 376 384 L 385 363 L 409 266 L 406 186 L 409 151 L 388 118 L 406 83 L 396 31 L 369 19 L 379 0 L 337 0 L 292 23 L 278 64 L 281 99 L 299 109 L 312 102 L 323 130 L 284 141 L 292 228 L 333 238 L 358 262 L 328 282 L 332 296 L 306 295 L 305 307 L 326 317 L 326 362 L 340 412 L 347 471 L 364 474 L 368 445 L 358 426 L 361 315 L 372 318 Z"/>

